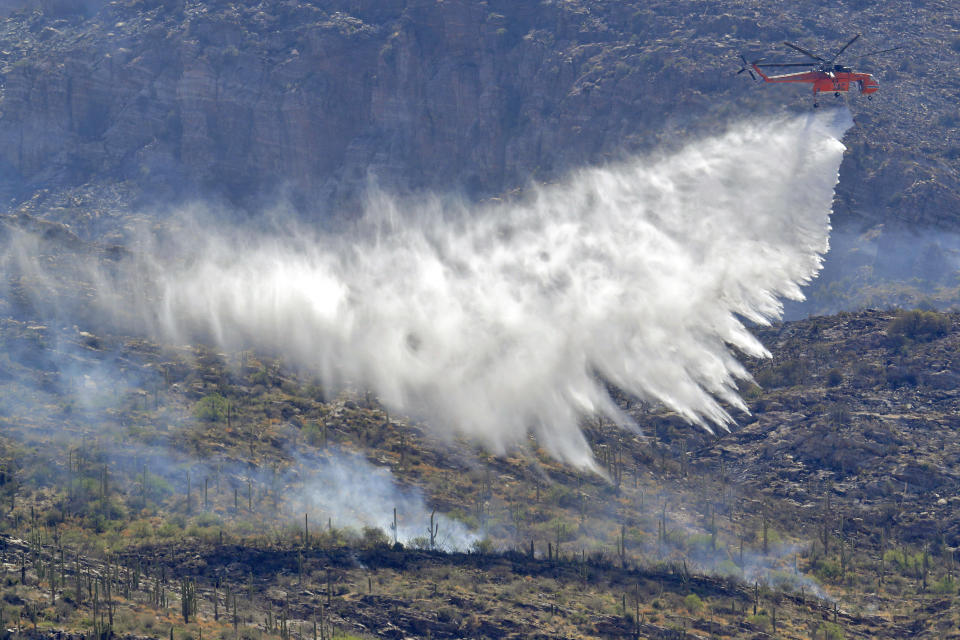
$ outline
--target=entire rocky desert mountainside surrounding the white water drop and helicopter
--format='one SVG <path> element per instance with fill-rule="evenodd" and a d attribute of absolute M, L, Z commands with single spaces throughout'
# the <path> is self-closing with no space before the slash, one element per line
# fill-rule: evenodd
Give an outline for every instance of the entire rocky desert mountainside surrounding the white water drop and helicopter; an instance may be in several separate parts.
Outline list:
<path fill-rule="evenodd" d="M 36 258 L 0 263 L 0 635 L 960 638 L 955 4 L 0 0 L 0 242 Z M 881 91 L 843 98 L 833 251 L 790 313 L 859 310 L 755 328 L 729 432 L 612 389 L 637 429 L 585 418 L 596 470 L 491 456 L 85 315 L 80 266 L 178 209 L 508 196 L 808 110 L 739 54 L 857 32 L 904 50 L 851 51 Z M 324 506 L 370 478 L 375 517 L 369 488 Z"/>

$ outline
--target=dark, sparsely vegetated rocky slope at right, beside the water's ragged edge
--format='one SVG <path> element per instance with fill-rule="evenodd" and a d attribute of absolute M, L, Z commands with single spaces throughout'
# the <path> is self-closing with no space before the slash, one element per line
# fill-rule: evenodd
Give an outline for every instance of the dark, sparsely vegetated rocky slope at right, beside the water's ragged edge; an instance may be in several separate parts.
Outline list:
<path fill-rule="evenodd" d="M 810 491 L 827 482 L 856 510 L 873 512 L 875 519 L 851 527 L 895 528 L 906 539 L 957 546 L 956 319 L 891 329 L 895 318 L 841 314 L 767 333 L 778 358 L 757 374 L 765 391 L 757 394 L 756 420 L 710 455 L 729 456 L 744 480 L 765 477 L 765 491 L 798 508 L 816 504 Z M 745 449 L 761 455 L 744 458 Z M 776 453 L 767 459 L 765 450 Z M 774 468 L 775 477 L 767 475 Z M 914 500 L 923 508 L 904 506 Z"/>

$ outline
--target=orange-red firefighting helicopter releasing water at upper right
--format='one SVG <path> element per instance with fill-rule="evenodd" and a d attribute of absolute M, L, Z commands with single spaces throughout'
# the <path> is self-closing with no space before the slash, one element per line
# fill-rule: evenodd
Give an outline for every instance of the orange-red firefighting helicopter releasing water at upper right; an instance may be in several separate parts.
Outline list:
<path fill-rule="evenodd" d="M 803 61 L 790 61 L 790 62 L 764 62 L 761 58 L 760 60 L 755 60 L 753 62 L 747 62 L 747 59 L 740 56 L 740 59 L 743 60 L 743 68 L 737 71 L 737 75 L 746 71 L 750 74 L 750 77 L 754 80 L 757 79 L 757 76 L 753 74 L 756 71 L 764 82 L 806 82 L 813 86 L 813 106 L 814 108 L 820 106 L 817 102 L 817 96 L 820 93 L 832 91 L 836 97 L 840 97 L 841 92 L 850 91 L 853 88 L 856 88 L 860 91 L 861 95 L 867 96 L 868 99 L 872 98 L 871 94 L 876 93 L 880 89 L 880 83 L 877 82 L 877 79 L 874 78 L 869 73 L 863 73 L 860 71 L 854 71 L 850 67 L 847 67 L 842 64 L 837 63 L 837 59 L 840 57 L 844 51 L 847 50 L 847 47 L 852 45 L 854 42 L 860 38 L 862 34 L 857 34 L 853 36 L 845 45 L 840 47 L 840 49 L 833 54 L 829 59 L 819 56 L 812 51 L 804 49 L 800 45 L 794 44 L 792 42 L 784 42 L 783 44 L 787 45 L 795 51 L 799 51 L 803 55 L 807 56 L 812 60 L 812 62 L 803 62 Z M 868 56 L 879 55 L 881 53 L 888 53 L 890 51 L 896 51 L 898 49 L 903 49 L 903 46 L 892 47 L 890 49 L 881 49 L 879 51 L 871 51 L 866 53 L 860 58 L 866 58 Z M 761 64 L 762 63 L 762 64 Z M 762 68 L 767 67 L 812 67 L 808 71 L 800 71 L 798 73 L 786 73 L 782 75 L 767 75 L 763 72 Z"/>

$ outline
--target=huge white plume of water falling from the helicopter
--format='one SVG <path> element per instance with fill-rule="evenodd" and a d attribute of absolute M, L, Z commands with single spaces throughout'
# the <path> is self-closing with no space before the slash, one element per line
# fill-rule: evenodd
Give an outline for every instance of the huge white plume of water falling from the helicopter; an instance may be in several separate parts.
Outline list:
<path fill-rule="evenodd" d="M 742 123 L 515 202 L 374 194 L 351 233 L 196 225 L 92 280 L 159 337 L 275 350 L 494 452 L 533 433 L 590 466 L 580 420 L 629 422 L 608 383 L 707 428 L 745 410 L 736 352 L 766 350 L 744 321 L 778 318 L 819 270 L 850 124 Z"/>

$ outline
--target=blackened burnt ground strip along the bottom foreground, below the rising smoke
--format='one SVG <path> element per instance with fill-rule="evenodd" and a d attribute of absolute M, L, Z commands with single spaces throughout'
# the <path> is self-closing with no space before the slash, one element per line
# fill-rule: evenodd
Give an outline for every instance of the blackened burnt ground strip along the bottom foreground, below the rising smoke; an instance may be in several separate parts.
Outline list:
<path fill-rule="evenodd" d="M 264 626 L 279 632 L 281 637 L 292 635 L 289 629 L 284 630 L 291 620 L 309 621 L 317 615 L 320 616 L 319 623 L 329 623 L 331 629 L 332 621 L 338 621 L 346 625 L 346 629 L 371 630 L 376 632 L 377 637 L 387 638 L 404 638 L 411 634 L 457 638 L 462 637 L 464 632 L 491 638 L 514 634 L 531 638 L 558 637 L 547 632 L 524 631 L 517 621 L 509 618 L 484 616 L 465 626 L 465 618 L 488 611 L 483 598 L 480 594 L 459 591 L 441 594 L 436 583 L 431 586 L 432 595 L 448 605 L 437 612 L 418 610 L 403 597 L 372 593 L 373 583 L 369 579 L 366 593 L 351 593 L 350 587 L 344 585 L 351 571 L 363 571 L 368 575 L 389 571 L 413 576 L 436 576 L 452 571 L 464 576 L 490 576 L 490 582 L 503 586 L 533 579 L 569 585 L 575 590 L 585 588 L 587 584 L 603 584 L 624 594 L 621 604 L 626 603 L 627 594 L 630 594 L 637 611 L 640 610 L 642 596 L 657 594 L 652 601 L 654 608 L 661 608 L 657 603 L 664 598 L 664 594 L 686 593 L 688 595 L 684 601 L 688 607 L 691 602 L 699 603 L 699 606 L 691 607 L 696 609 L 695 612 L 702 609 L 703 600 L 715 600 L 723 603 L 717 613 L 742 616 L 741 621 L 733 625 L 718 619 L 708 621 L 674 616 L 675 622 L 683 621 L 683 626 L 678 627 L 675 622 L 657 624 L 657 616 L 648 620 L 646 616 L 631 615 L 621 607 L 621 615 L 595 615 L 590 620 L 592 632 L 605 638 L 681 638 L 685 637 L 687 628 L 738 637 L 742 633 L 762 631 L 768 624 L 758 623 L 746 616 L 751 607 L 756 611 L 757 606 L 773 609 L 779 606 L 781 611 L 801 610 L 824 619 L 838 620 L 855 630 L 858 627 L 872 628 L 882 622 L 876 618 L 840 611 L 834 603 L 817 597 L 778 593 L 767 588 L 761 589 L 759 585 L 745 585 L 733 578 L 694 575 L 681 564 L 645 568 L 619 566 L 602 554 L 582 558 L 571 554 L 546 560 L 534 559 L 519 552 L 446 554 L 428 550 L 391 549 L 385 544 L 367 549 L 310 551 L 194 544 L 177 548 L 141 547 L 136 552 L 122 553 L 102 562 L 81 562 L 78 559 L 74 564 L 61 561 L 58 565 L 58 553 L 63 555 L 62 547 L 58 546 L 60 541 L 48 542 L 38 539 L 25 544 L 2 536 L 0 557 L 6 562 L 18 561 L 25 569 L 30 567 L 31 572 L 36 571 L 37 580 L 50 570 L 45 569 L 44 563 L 48 563 L 47 567 L 60 572 L 58 588 L 62 587 L 62 598 L 71 606 L 82 606 L 85 597 L 93 598 L 89 604 L 103 617 L 103 621 L 98 622 L 101 626 L 95 626 L 95 635 L 101 638 L 114 635 L 112 622 L 106 622 L 116 612 L 114 597 L 122 597 L 127 601 L 143 600 L 161 612 L 179 601 L 179 615 L 184 626 L 190 624 L 191 616 L 201 612 L 201 606 L 204 610 L 212 610 L 214 621 L 219 621 L 222 616 L 237 624 L 249 624 L 253 621 L 251 614 L 254 611 L 263 611 L 267 613 Z M 277 577 L 294 572 L 319 578 L 316 587 L 277 592 L 273 586 Z M 30 584 L 33 577 L 33 573 L 24 571 L 20 584 Z M 54 575 L 52 579 L 56 583 L 58 578 Z M 444 585 L 443 588 L 446 591 L 451 586 Z M 235 609 L 237 598 L 242 600 L 242 611 Z M 25 604 L 9 597 L 7 601 Z M 524 605 L 524 609 L 540 609 L 559 617 L 575 616 L 573 610 L 546 597 Z M 209 614 L 210 610 L 206 613 Z M 21 618 L 19 622 L 22 621 Z M 905 629 L 892 626 L 887 631 L 906 632 Z M 339 631 L 341 634 L 344 632 L 343 628 Z M 859 635 L 856 631 L 854 633 Z M 36 631 L 32 635 L 45 637 Z"/>

